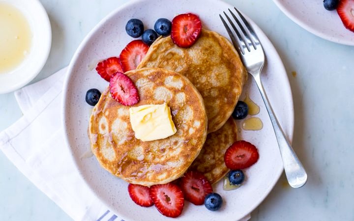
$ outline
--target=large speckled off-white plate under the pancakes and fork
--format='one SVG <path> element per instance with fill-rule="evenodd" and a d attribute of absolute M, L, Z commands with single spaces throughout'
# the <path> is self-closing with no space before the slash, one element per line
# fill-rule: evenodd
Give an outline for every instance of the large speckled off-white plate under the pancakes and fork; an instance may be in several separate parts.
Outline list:
<path fill-rule="evenodd" d="M 131 18 L 141 19 L 146 28 L 153 28 L 158 18 L 172 20 L 177 14 L 193 12 L 200 16 L 205 28 L 228 36 L 219 13 L 232 7 L 220 0 L 180 0 L 178 7 L 175 0 L 130 1 L 93 28 L 76 51 L 63 90 L 63 121 L 67 143 L 77 169 L 91 190 L 102 202 L 121 215 L 122 219 L 144 221 L 148 217 L 148 220 L 154 221 L 167 220 L 155 207 L 143 208 L 136 205 L 127 192 L 128 183 L 111 175 L 99 165 L 95 157 L 88 154 L 87 130 L 91 107 L 85 102 L 85 94 L 89 88 L 103 91 L 108 86 L 108 83 L 94 70 L 97 61 L 118 56 L 125 45 L 133 40 L 124 29 L 126 22 Z M 250 22 L 266 52 L 266 65 L 262 75 L 266 92 L 285 133 L 291 140 L 294 131 L 294 107 L 287 74 L 279 55 L 266 35 L 252 21 Z M 239 189 L 226 192 L 222 188 L 222 182 L 214 185 L 214 191 L 220 193 L 224 199 L 220 211 L 211 212 L 204 206 L 195 206 L 186 202 L 178 220 L 238 220 L 249 214 L 264 200 L 282 173 L 283 165 L 277 141 L 261 95 L 251 77 L 244 87 L 242 96 L 244 97 L 246 93 L 260 106 L 261 111 L 256 117 L 262 119 L 264 127 L 260 131 L 239 130 L 239 139 L 250 141 L 258 147 L 259 161 L 245 169 L 247 180 Z"/>

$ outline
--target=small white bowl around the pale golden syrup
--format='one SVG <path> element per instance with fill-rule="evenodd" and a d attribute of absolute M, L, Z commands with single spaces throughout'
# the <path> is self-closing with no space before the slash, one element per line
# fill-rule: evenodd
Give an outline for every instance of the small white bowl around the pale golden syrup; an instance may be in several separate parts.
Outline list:
<path fill-rule="evenodd" d="M 0 94 L 14 91 L 32 81 L 47 61 L 52 29 L 47 12 L 39 0 L 1 0 L 19 9 L 32 33 L 29 55 L 13 70 L 0 74 Z"/>

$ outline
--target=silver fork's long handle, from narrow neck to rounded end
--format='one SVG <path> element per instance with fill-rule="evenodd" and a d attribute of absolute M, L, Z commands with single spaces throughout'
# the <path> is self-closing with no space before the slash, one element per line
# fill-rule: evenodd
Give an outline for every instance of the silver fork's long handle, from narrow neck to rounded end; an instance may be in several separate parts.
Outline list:
<path fill-rule="evenodd" d="M 261 92 L 262 99 L 266 105 L 266 110 L 268 111 L 270 121 L 273 125 L 275 137 L 278 141 L 279 150 L 282 156 L 284 170 L 288 182 L 293 188 L 302 187 L 307 181 L 307 173 L 304 167 L 302 166 L 301 162 L 297 158 L 292 146 L 290 145 L 288 139 L 285 137 L 285 134 L 282 128 L 280 127 L 277 118 L 275 117 L 273 109 L 271 108 L 268 98 L 266 96 L 263 84 L 261 82 L 260 74 L 252 76 L 257 83 L 258 89 Z"/>

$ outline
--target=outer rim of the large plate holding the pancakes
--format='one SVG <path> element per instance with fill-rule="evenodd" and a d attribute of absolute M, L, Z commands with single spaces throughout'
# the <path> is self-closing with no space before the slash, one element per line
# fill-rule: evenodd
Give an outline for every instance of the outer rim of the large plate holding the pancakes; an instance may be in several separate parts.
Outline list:
<path fill-rule="evenodd" d="M 111 19 L 111 17 L 113 17 L 116 13 L 118 13 L 118 11 L 122 10 L 123 8 L 125 7 L 128 7 L 130 5 L 134 5 L 134 4 L 137 4 L 139 2 L 144 2 L 146 0 L 129 0 L 128 2 L 126 3 L 123 3 L 121 4 L 120 6 L 118 6 L 117 8 L 113 9 L 110 13 L 108 13 L 104 18 L 102 18 L 102 20 L 100 22 L 98 22 L 90 31 L 89 33 L 85 36 L 85 38 L 82 40 L 82 42 L 80 43 L 79 47 L 77 48 L 77 50 L 75 51 L 72 59 L 70 60 L 70 64 L 68 66 L 68 69 L 66 71 L 66 75 L 65 75 L 65 78 L 64 78 L 64 83 L 63 83 L 63 96 L 62 96 L 62 100 L 61 100 L 61 107 L 62 107 L 62 126 L 63 126 L 63 132 L 64 132 L 64 140 L 65 140 L 65 144 L 67 146 L 67 148 L 69 149 L 69 152 L 70 152 L 70 156 L 74 162 L 74 165 L 75 165 L 75 169 L 79 172 L 81 178 L 83 178 L 85 184 L 89 187 L 89 190 L 91 191 L 91 193 L 93 193 L 93 195 L 95 197 L 97 197 L 101 203 L 103 205 L 105 205 L 107 208 L 110 208 L 112 211 L 116 212 L 117 214 L 119 214 L 121 216 L 121 218 L 123 220 L 130 220 L 130 219 L 126 219 L 126 217 L 124 217 L 121 213 L 119 213 L 119 211 L 115 208 L 113 208 L 110 204 L 106 203 L 105 200 L 102 200 L 102 197 L 96 193 L 93 188 L 88 184 L 88 181 L 84 178 L 84 175 L 83 175 L 83 172 L 80 170 L 80 167 L 79 167 L 79 164 L 77 162 L 77 159 L 75 158 L 74 154 L 73 154 L 73 151 L 72 151 L 72 148 L 71 148 L 71 145 L 70 145 L 70 142 L 69 142 L 69 137 L 68 137 L 68 128 L 67 128 L 67 124 L 66 124 L 66 119 L 67 119 L 67 103 L 66 103 L 66 97 L 68 95 L 68 90 L 66 89 L 67 86 L 69 85 L 69 79 L 71 77 L 71 75 L 73 74 L 73 68 L 74 68 L 74 64 L 76 62 L 76 60 L 78 59 L 79 55 L 81 54 L 82 50 L 84 49 L 84 47 L 86 46 L 87 42 L 89 41 L 90 37 L 97 31 L 97 29 L 99 29 L 107 20 Z M 234 5 L 228 3 L 228 2 L 225 2 L 224 0 L 213 0 L 215 2 L 222 2 L 222 3 L 225 3 L 227 5 L 229 5 L 231 8 L 235 7 Z M 262 33 L 266 39 L 266 41 L 268 41 L 268 44 L 269 46 L 272 48 L 272 50 L 274 50 L 275 54 L 272 55 L 273 56 L 276 56 L 276 59 L 274 60 L 280 60 L 281 61 L 281 65 L 280 65 L 280 69 L 281 69 L 281 72 L 285 74 L 286 78 L 285 78 L 285 82 L 286 83 L 286 88 L 289 88 L 289 98 L 291 99 L 290 101 L 290 104 L 291 104 L 291 113 L 289 112 L 289 117 L 291 118 L 290 122 L 291 122 L 291 125 L 290 126 L 290 129 L 291 131 L 289 132 L 289 141 L 290 143 L 292 143 L 293 141 L 293 137 L 294 137 L 294 124 L 295 124 L 295 112 L 294 112 L 294 99 L 293 99 L 293 95 L 292 95 L 292 90 L 291 90 L 291 86 L 290 86 L 290 81 L 289 81 L 289 78 L 287 76 L 287 72 L 286 72 L 286 69 L 284 67 L 284 63 L 282 61 L 282 59 L 280 58 L 280 55 L 278 54 L 277 50 L 275 49 L 274 45 L 271 43 L 271 41 L 268 39 L 268 37 L 266 36 L 266 34 L 263 32 L 263 30 L 261 28 L 258 27 L 257 24 L 255 24 L 247 15 L 245 15 L 242 11 L 240 11 L 244 16 L 245 18 L 252 24 L 253 28 L 257 29 L 257 32 L 259 33 Z M 249 75 L 248 75 L 249 78 L 251 78 Z M 271 190 L 275 187 L 276 183 L 278 182 L 281 174 L 283 173 L 284 171 L 284 166 L 283 164 L 279 167 L 279 171 L 277 171 L 275 173 L 275 176 L 276 176 L 276 179 L 274 180 L 274 183 L 271 183 L 271 185 L 269 185 L 269 188 L 265 190 L 265 195 L 263 198 L 261 198 L 261 200 L 258 200 L 256 203 L 254 203 L 249 211 L 247 211 L 247 213 L 245 213 L 245 216 L 247 216 L 247 214 L 250 214 L 252 211 L 254 211 L 265 199 L 266 197 L 268 196 L 268 194 L 271 192 Z"/>

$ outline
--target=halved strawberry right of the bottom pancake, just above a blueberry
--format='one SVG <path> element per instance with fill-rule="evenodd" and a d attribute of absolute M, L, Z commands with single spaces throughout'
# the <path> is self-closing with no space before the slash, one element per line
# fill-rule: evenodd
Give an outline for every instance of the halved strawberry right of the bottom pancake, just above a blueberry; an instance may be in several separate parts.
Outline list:
<path fill-rule="evenodd" d="M 224 161 L 229 169 L 244 169 L 255 164 L 258 158 L 258 150 L 252 143 L 239 140 L 226 150 Z"/>

